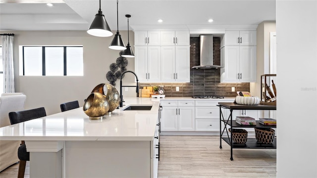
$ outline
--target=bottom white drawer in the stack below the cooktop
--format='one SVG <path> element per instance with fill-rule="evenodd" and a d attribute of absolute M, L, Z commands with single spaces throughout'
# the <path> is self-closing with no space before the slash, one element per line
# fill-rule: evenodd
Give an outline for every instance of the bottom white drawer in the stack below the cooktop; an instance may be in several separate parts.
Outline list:
<path fill-rule="evenodd" d="M 216 131 L 219 132 L 220 121 L 217 119 L 195 119 L 195 131 Z M 223 124 L 221 123 L 221 128 Z"/>

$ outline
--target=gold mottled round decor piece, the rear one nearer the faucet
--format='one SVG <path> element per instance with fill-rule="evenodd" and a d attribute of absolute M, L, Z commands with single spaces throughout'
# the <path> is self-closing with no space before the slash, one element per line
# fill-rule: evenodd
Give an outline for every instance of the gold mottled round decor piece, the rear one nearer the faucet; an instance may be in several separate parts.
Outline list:
<path fill-rule="evenodd" d="M 111 84 L 99 84 L 92 92 L 99 92 L 106 95 L 106 100 L 109 103 L 109 111 L 106 114 L 111 115 L 111 112 L 119 106 L 120 94 Z"/>

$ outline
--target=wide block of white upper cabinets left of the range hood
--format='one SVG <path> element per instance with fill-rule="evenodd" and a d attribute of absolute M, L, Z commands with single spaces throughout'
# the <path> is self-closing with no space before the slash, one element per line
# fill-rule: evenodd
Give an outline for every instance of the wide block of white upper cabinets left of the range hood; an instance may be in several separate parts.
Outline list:
<path fill-rule="evenodd" d="M 190 82 L 189 31 L 135 31 L 140 82 Z"/>

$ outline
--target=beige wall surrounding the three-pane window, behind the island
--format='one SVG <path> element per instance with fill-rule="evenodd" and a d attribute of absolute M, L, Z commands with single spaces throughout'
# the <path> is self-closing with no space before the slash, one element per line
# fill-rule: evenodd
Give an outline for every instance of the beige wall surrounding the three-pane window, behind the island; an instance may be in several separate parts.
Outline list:
<path fill-rule="evenodd" d="M 109 49 L 112 37 L 94 37 L 86 31 L 1 31 L 14 33 L 14 79 L 15 91 L 27 95 L 26 109 L 45 107 L 47 114 L 60 112 L 63 102 L 78 100 L 83 106 L 84 99 L 92 89 L 101 83 L 109 83 L 106 73 L 109 65 L 115 63 L 120 56 L 119 50 Z M 115 32 L 113 32 L 115 34 Z M 127 45 L 127 31 L 120 31 L 122 40 Z M 134 50 L 134 34 L 130 31 L 130 45 Z M 1 45 L 1 44 L 0 44 Z M 83 45 L 84 76 L 20 76 L 19 45 Z M 134 58 L 127 58 L 127 70 L 134 71 Z M 124 85 L 135 85 L 134 76 L 125 74 Z M 120 92 L 120 81 L 116 81 L 116 89 Z M 136 96 L 135 88 L 123 91 L 124 96 Z"/>

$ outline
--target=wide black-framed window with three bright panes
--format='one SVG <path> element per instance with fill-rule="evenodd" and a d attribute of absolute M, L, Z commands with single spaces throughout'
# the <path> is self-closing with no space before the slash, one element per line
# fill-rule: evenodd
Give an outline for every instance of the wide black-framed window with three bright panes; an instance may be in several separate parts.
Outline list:
<path fill-rule="evenodd" d="M 83 76 L 83 46 L 22 46 L 24 76 Z"/>

